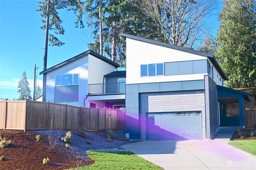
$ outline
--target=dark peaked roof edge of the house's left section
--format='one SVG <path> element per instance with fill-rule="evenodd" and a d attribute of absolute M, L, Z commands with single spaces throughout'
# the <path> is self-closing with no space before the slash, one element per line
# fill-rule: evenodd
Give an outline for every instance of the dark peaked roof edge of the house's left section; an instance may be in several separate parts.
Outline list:
<path fill-rule="evenodd" d="M 72 57 L 72 58 L 70 58 L 70 59 L 68 59 L 68 60 L 66 60 L 66 61 L 63 61 L 62 63 L 59 63 L 59 64 L 57 64 L 57 65 L 54 65 L 54 66 L 52 66 L 52 67 L 50 67 L 50 68 L 48 68 L 48 69 L 46 69 L 46 70 L 40 72 L 40 75 L 45 74 L 45 73 L 47 73 L 48 71 L 52 71 L 53 69 L 56 69 L 56 68 L 58 68 L 58 67 L 60 67 L 60 66 L 62 66 L 62 65 L 65 65 L 65 64 L 67 64 L 67 63 L 69 63 L 69 62 L 71 62 L 71 61 L 74 61 L 74 60 L 76 60 L 76 59 L 78 59 L 78 58 L 80 58 L 80 57 L 83 57 L 83 56 L 86 55 L 86 54 L 90 54 L 90 55 L 92 55 L 92 56 L 94 56 L 94 57 L 96 57 L 96 58 L 98 58 L 98 59 L 101 59 L 102 61 L 105 61 L 106 63 L 109 63 L 109 64 L 115 66 L 116 68 L 120 67 L 120 65 L 119 65 L 118 63 L 115 63 L 114 61 L 112 61 L 112 60 L 110 60 L 110 59 L 104 57 L 103 55 L 100 55 L 99 53 L 96 53 L 96 52 L 94 52 L 94 51 L 92 51 L 92 50 L 88 50 L 88 51 L 85 51 L 85 52 L 83 52 L 83 53 L 80 53 L 80 54 L 78 54 L 78 55 L 76 55 L 76 56 L 74 56 L 74 57 Z"/>

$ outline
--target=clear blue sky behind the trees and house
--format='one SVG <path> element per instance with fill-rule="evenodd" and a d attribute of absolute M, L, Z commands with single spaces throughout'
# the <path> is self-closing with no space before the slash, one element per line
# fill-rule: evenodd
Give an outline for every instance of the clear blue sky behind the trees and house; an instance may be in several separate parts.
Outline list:
<path fill-rule="evenodd" d="M 221 1 L 220 1 L 221 2 Z M 44 31 L 40 29 L 41 16 L 36 0 L 0 0 L 0 98 L 18 99 L 18 81 L 26 71 L 32 89 L 34 64 L 38 65 L 37 82 L 42 87 L 44 57 Z M 220 9 L 219 9 L 220 10 Z M 90 30 L 75 28 L 76 17 L 71 11 L 58 11 L 66 30 L 65 35 L 58 35 L 65 43 L 62 47 L 48 47 L 47 68 L 82 53 L 87 48 Z M 207 19 L 215 36 L 218 29 L 217 16 Z M 33 92 L 32 92 L 33 93 Z"/>

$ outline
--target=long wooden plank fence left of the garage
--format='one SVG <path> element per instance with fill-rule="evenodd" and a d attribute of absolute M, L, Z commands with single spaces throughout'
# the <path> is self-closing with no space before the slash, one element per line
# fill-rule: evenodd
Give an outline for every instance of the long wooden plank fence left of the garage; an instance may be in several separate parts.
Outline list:
<path fill-rule="evenodd" d="M 125 129 L 125 111 L 38 101 L 0 101 L 0 129 Z"/>

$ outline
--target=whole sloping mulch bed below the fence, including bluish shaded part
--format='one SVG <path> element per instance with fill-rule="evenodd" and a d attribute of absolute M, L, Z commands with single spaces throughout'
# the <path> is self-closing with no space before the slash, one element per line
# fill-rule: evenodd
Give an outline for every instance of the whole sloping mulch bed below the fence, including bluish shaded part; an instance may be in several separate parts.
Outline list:
<path fill-rule="evenodd" d="M 23 132 L 21 130 L 0 130 L 0 136 L 11 140 L 9 147 L 0 147 L 0 157 L 5 156 L 6 160 L 0 161 L 0 169 L 68 169 L 76 168 L 76 156 L 83 158 L 83 166 L 94 163 L 86 156 L 86 150 L 92 149 L 113 149 L 120 148 L 121 145 L 129 143 L 113 138 L 108 142 L 106 132 L 86 132 L 87 137 L 78 136 L 78 131 L 72 131 L 70 148 L 65 148 L 65 142 L 60 138 L 65 136 L 68 130 L 53 130 L 52 134 L 59 134 L 60 138 L 56 148 L 49 151 L 48 130 L 37 130 L 33 132 Z M 40 141 L 36 142 L 36 135 L 40 134 Z M 43 158 L 49 158 L 49 164 L 43 165 Z"/>

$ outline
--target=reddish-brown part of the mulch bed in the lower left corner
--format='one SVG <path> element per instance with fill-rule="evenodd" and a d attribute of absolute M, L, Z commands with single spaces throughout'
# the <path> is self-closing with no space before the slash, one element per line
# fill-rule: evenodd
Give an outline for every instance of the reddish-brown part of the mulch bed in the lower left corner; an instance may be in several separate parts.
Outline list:
<path fill-rule="evenodd" d="M 0 148 L 0 156 L 5 156 L 7 159 L 0 161 L 1 170 L 63 170 L 76 167 L 73 162 L 70 163 L 70 159 L 74 160 L 76 155 L 71 149 L 57 144 L 53 152 L 49 152 L 46 134 L 40 134 L 41 142 L 36 142 L 36 133 L 21 130 L 0 130 L 0 136 L 12 142 L 10 147 Z M 50 159 L 49 165 L 42 163 L 43 158 L 46 157 Z M 84 166 L 93 163 L 94 161 L 88 156 L 83 162 Z"/>

